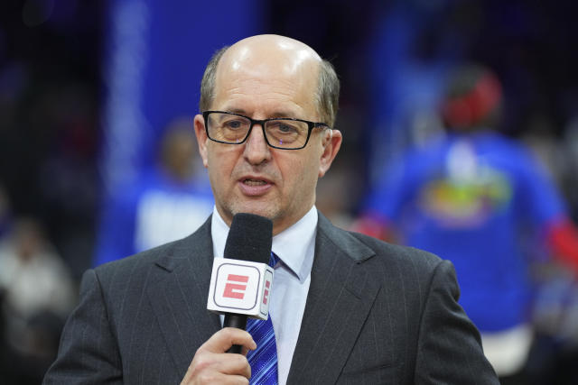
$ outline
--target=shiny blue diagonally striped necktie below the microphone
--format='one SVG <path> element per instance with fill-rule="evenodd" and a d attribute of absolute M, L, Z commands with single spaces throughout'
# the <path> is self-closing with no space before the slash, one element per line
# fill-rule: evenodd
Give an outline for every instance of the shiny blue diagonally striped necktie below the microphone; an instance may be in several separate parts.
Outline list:
<path fill-rule="evenodd" d="M 269 259 L 269 266 L 274 267 L 279 261 L 273 252 Z M 247 332 L 253 336 L 256 349 L 247 353 L 247 360 L 251 365 L 251 384 L 278 384 L 277 372 L 277 344 L 271 316 L 266 321 L 256 318 L 247 320 Z"/>

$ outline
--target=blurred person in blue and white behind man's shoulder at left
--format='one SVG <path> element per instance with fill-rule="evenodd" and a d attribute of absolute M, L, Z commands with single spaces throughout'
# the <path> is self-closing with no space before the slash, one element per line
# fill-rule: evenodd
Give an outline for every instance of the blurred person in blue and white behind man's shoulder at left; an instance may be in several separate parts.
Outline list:
<path fill-rule="evenodd" d="M 96 265 L 182 238 L 210 215 L 212 194 L 191 124 L 187 119 L 170 124 L 158 168 L 105 204 Z"/>

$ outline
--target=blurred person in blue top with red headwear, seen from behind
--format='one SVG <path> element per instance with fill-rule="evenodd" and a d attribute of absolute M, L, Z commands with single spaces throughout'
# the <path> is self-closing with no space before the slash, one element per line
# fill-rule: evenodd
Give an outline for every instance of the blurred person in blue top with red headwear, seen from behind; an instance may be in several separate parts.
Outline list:
<path fill-rule="evenodd" d="M 408 151 L 381 174 L 357 230 L 451 260 L 461 306 L 479 327 L 503 383 L 526 383 L 533 339 L 528 263 L 538 251 L 578 271 L 578 233 L 555 185 L 498 123 L 501 85 L 488 69 L 464 66 L 443 105 L 448 133 Z"/>

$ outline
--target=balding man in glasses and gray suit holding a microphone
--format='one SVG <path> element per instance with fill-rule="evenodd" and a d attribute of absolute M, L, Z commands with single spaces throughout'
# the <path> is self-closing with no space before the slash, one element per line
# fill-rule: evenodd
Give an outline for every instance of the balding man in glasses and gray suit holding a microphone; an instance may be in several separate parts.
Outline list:
<path fill-rule="evenodd" d="M 451 263 L 316 211 L 341 143 L 329 63 L 300 41 L 254 36 L 213 57 L 201 94 L 213 215 L 188 238 L 87 272 L 45 383 L 247 383 L 255 368 L 225 352 L 256 349 L 252 336 L 220 330 L 205 309 L 213 257 L 242 212 L 273 221 L 280 383 L 497 383 Z"/>

